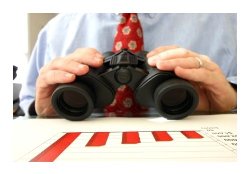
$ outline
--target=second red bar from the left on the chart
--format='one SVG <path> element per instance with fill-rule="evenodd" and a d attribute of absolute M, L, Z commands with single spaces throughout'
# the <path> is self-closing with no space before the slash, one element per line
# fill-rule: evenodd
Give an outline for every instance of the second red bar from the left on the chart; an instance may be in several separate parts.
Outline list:
<path fill-rule="evenodd" d="M 109 132 L 95 132 L 86 146 L 103 146 L 106 144 Z"/>

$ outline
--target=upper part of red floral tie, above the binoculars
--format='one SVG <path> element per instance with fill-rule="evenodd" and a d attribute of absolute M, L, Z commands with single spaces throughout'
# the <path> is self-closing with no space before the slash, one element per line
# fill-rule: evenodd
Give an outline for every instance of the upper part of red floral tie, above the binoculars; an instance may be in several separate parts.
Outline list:
<path fill-rule="evenodd" d="M 143 30 L 136 13 L 123 13 L 114 38 L 113 52 L 128 49 L 133 53 L 143 50 Z"/>

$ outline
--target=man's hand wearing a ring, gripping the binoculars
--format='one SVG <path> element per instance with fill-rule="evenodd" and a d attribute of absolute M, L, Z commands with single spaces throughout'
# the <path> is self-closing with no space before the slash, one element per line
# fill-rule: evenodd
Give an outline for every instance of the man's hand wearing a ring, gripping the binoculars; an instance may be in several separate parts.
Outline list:
<path fill-rule="evenodd" d="M 208 56 L 177 46 L 162 46 L 147 57 L 150 66 L 174 71 L 194 85 L 200 97 L 197 111 L 228 112 L 236 106 L 236 91 Z"/>

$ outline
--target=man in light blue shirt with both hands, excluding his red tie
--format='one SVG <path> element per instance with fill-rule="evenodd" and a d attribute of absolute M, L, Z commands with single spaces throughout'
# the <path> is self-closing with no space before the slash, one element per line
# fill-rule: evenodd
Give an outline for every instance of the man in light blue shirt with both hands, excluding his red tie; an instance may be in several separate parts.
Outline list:
<path fill-rule="evenodd" d="M 196 111 L 236 107 L 236 14 L 138 17 L 149 65 L 189 80 L 200 97 Z M 119 14 L 60 14 L 42 29 L 20 94 L 27 115 L 57 115 L 52 92 L 103 64 L 102 53 L 112 49 L 119 20 Z"/>

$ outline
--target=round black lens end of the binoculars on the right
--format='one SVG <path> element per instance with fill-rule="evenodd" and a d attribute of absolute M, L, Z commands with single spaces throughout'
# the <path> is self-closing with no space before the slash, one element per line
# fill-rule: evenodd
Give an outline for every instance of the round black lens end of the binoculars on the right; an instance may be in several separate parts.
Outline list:
<path fill-rule="evenodd" d="M 193 87 L 180 79 L 162 83 L 154 93 L 155 107 L 169 119 L 181 119 L 194 111 L 198 95 Z"/>

